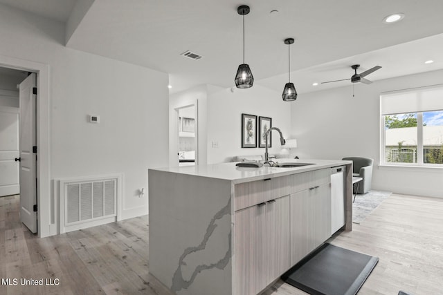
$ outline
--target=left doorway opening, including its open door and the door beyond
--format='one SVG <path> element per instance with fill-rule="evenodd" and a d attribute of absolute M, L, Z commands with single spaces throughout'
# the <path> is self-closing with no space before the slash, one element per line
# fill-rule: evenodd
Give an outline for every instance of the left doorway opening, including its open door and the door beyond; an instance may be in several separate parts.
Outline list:
<path fill-rule="evenodd" d="M 19 198 L 20 220 L 36 234 L 37 74 L 0 67 L 0 81 L 0 197 Z"/>

